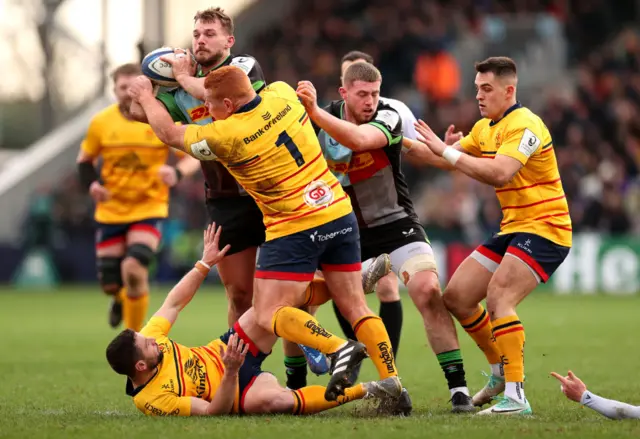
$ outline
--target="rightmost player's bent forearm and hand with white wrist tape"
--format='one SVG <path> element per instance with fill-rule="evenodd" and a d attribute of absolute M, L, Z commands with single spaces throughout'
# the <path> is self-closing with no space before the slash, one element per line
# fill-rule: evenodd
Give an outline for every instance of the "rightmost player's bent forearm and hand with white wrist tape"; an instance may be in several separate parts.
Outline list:
<path fill-rule="evenodd" d="M 422 120 L 416 124 L 416 131 L 435 155 L 469 177 L 491 186 L 504 186 L 522 168 L 521 162 L 506 155 L 498 154 L 494 160 L 484 160 L 464 154 L 459 149 L 446 145 Z"/>

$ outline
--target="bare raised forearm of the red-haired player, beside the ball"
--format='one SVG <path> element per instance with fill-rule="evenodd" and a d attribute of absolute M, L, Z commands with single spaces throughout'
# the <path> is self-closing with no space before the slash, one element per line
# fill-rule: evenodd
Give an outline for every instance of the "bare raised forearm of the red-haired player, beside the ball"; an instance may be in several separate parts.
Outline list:
<path fill-rule="evenodd" d="M 156 136 L 165 144 L 185 150 L 184 133 L 187 127 L 176 125 L 167 109 L 153 95 L 151 81 L 139 76 L 129 88 L 131 98 L 140 104 Z"/>

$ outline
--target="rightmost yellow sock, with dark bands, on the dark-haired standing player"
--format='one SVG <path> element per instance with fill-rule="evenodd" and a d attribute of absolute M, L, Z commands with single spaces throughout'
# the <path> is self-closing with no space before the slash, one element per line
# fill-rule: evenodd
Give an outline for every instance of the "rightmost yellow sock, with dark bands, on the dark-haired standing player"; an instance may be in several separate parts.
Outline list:
<path fill-rule="evenodd" d="M 524 327 L 518 316 L 508 316 L 491 322 L 496 345 L 502 354 L 504 379 L 508 382 L 524 381 Z"/>

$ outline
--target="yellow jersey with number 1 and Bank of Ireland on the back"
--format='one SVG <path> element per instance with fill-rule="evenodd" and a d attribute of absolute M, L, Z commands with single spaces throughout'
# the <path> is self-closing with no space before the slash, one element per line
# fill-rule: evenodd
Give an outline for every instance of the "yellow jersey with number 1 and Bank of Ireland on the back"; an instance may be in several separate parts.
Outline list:
<path fill-rule="evenodd" d="M 219 160 L 257 202 L 270 241 L 352 212 L 295 91 L 275 82 L 225 120 L 189 125 L 186 152 Z"/>

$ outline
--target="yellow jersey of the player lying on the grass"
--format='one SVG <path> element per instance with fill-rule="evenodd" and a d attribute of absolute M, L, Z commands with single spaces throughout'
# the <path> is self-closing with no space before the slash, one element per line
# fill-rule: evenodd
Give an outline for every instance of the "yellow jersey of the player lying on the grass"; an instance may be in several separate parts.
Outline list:
<path fill-rule="evenodd" d="M 156 374 L 134 389 L 127 378 L 127 395 L 146 415 L 190 416 L 191 397 L 211 401 L 220 385 L 224 364 L 216 339 L 206 346 L 188 348 L 168 337 L 171 324 L 164 317 L 152 317 L 140 334 L 152 337 L 163 353 Z M 238 395 L 235 408 L 237 409 Z"/>

